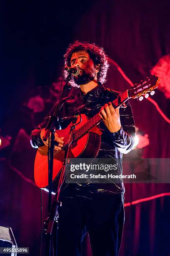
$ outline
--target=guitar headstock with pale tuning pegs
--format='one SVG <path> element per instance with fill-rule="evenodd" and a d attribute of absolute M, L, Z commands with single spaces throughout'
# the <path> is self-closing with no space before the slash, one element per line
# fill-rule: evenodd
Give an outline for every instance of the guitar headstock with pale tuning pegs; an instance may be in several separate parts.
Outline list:
<path fill-rule="evenodd" d="M 155 77 L 155 75 L 147 77 L 145 81 L 135 84 L 128 90 L 128 96 L 133 99 L 139 98 L 139 100 L 143 100 L 144 95 L 148 98 L 148 92 L 153 95 L 155 93 L 153 90 L 158 87 L 159 82 L 159 77 Z"/>

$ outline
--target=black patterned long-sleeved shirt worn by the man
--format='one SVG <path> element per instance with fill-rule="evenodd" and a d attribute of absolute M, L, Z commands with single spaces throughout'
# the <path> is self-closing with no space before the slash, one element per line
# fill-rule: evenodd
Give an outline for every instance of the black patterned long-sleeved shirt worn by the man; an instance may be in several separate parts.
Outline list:
<path fill-rule="evenodd" d="M 117 98 L 119 93 L 105 88 L 102 84 L 97 85 L 87 94 L 83 94 L 80 90 L 77 94 L 65 97 L 60 102 L 58 111 L 58 118 L 60 128 L 64 129 L 71 122 L 75 111 L 87 115 L 89 118 L 99 113 L 100 108 L 105 103 L 111 102 Z M 57 103 L 56 103 L 57 104 Z M 31 133 L 31 145 L 34 148 L 44 146 L 40 138 L 40 131 L 47 125 L 49 116 L 52 115 L 56 104 L 53 106 L 49 115 L 38 127 Z M 118 161 L 122 159 L 122 153 L 127 154 L 134 144 L 135 124 L 133 113 L 129 102 L 126 102 L 126 108 L 120 108 L 120 131 L 110 133 L 101 122 L 100 129 L 102 129 L 101 144 L 96 158 L 112 158 Z M 57 121 L 57 119 L 56 119 Z M 56 123 L 57 125 L 57 123 Z M 90 158 L 90 156 L 89 156 Z M 122 163 L 119 161 L 119 172 L 122 173 Z M 97 195 L 111 195 L 113 193 L 124 192 L 124 185 L 121 184 L 68 184 L 61 194 L 65 196 L 97 196 Z"/>

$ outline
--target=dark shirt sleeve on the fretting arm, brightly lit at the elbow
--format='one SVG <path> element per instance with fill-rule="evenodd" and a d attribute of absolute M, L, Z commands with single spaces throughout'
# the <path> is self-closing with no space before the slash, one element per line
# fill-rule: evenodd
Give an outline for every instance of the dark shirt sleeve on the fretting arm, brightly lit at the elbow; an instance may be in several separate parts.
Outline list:
<path fill-rule="evenodd" d="M 115 133 L 110 133 L 113 145 L 123 154 L 129 153 L 135 142 L 135 122 L 130 102 L 126 108 L 120 108 L 121 128 Z"/>

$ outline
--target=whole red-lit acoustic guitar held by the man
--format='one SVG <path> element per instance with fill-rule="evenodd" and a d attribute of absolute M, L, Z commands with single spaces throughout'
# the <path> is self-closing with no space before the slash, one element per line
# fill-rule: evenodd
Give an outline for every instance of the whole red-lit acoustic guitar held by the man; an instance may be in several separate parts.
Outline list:
<path fill-rule="evenodd" d="M 115 100 L 112 101 L 114 108 L 123 107 L 125 102 L 130 98 L 143 99 L 143 96 L 148 97 L 148 92 L 151 95 L 154 94 L 154 89 L 158 87 L 160 79 L 155 77 L 155 75 L 147 77 L 145 81 L 141 81 L 135 84 L 129 90 L 126 90 L 122 94 L 118 95 Z M 97 156 L 100 142 L 101 134 L 97 125 L 102 121 L 100 116 L 96 114 L 92 118 L 88 118 L 85 114 L 78 116 L 75 129 L 73 131 L 72 143 L 70 146 L 70 151 L 68 152 L 69 158 L 95 158 Z M 53 162 L 53 176 L 52 182 L 55 182 L 60 170 L 62 169 L 62 163 L 65 155 L 65 148 L 68 146 L 68 141 L 70 137 L 70 128 L 72 123 L 67 126 L 67 128 L 62 130 L 56 130 L 59 136 L 64 137 L 63 147 L 61 150 L 54 150 L 54 162 Z M 34 166 L 34 178 L 37 187 L 45 188 L 48 186 L 48 162 L 47 162 L 47 146 L 42 146 L 38 148 L 35 156 L 35 166 Z M 89 155 L 90 152 L 90 155 Z"/>

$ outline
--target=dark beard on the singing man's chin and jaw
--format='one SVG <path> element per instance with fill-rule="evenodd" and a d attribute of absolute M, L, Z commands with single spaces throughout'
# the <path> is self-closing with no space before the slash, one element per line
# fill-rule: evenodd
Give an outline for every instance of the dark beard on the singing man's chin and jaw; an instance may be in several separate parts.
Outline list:
<path fill-rule="evenodd" d="M 90 68 L 87 72 L 82 70 L 82 74 L 74 76 L 73 79 L 77 85 L 88 84 L 90 81 L 95 79 L 95 68 Z"/>

